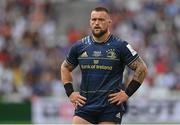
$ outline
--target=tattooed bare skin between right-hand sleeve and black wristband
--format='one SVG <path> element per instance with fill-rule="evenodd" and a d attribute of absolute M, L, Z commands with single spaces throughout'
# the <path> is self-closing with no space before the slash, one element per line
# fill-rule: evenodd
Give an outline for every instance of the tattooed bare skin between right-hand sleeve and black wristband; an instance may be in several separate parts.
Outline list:
<path fill-rule="evenodd" d="M 133 79 L 142 83 L 147 74 L 147 66 L 141 57 L 129 64 L 128 67 L 135 71 Z"/>

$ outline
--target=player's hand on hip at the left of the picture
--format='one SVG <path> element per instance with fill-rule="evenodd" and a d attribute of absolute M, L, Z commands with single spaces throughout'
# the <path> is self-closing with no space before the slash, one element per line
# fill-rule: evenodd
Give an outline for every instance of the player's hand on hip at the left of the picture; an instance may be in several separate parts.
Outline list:
<path fill-rule="evenodd" d="M 84 96 L 81 96 L 79 92 L 73 92 L 69 96 L 69 99 L 75 108 L 77 108 L 77 106 L 83 106 L 86 103 L 86 98 Z"/>

